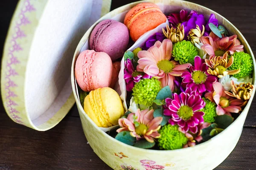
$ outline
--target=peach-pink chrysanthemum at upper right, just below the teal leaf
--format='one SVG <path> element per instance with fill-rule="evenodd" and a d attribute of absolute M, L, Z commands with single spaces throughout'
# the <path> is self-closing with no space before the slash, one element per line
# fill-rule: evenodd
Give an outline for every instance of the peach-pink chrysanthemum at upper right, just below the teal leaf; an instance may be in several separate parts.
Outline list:
<path fill-rule="evenodd" d="M 201 37 L 200 41 L 204 44 L 201 48 L 212 56 L 223 56 L 225 53 L 234 54 L 234 52 L 244 51 L 244 45 L 237 40 L 237 35 L 231 37 L 219 38 L 213 32 L 207 37 Z"/>

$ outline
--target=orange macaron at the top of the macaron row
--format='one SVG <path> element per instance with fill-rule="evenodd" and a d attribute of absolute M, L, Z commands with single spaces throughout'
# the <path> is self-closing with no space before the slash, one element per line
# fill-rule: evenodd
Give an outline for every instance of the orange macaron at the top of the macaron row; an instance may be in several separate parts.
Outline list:
<path fill-rule="evenodd" d="M 128 11 L 124 24 L 130 31 L 131 39 L 135 42 L 144 33 L 165 22 L 166 16 L 156 4 L 140 3 Z"/>

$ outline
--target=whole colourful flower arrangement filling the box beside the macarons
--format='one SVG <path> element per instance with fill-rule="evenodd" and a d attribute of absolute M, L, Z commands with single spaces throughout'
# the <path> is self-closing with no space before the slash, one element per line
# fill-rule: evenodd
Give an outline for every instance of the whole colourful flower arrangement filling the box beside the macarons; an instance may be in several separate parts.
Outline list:
<path fill-rule="evenodd" d="M 211 14 L 172 13 L 124 54 L 128 111 L 115 138 L 141 148 L 192 147 L 221 133 L 253 91 L 253 60 Z"/>

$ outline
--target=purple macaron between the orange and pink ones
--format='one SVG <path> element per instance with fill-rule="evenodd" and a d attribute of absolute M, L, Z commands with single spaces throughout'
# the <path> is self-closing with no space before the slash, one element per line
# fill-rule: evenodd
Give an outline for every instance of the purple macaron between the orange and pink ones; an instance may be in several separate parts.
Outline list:
<path fill-rule="evenodd" d="M 129 42 L 128 28 L 115 20 L 103 20 L 90 35 L 90 49 L 107 53 L 112 61 L 123 57 Z"/>

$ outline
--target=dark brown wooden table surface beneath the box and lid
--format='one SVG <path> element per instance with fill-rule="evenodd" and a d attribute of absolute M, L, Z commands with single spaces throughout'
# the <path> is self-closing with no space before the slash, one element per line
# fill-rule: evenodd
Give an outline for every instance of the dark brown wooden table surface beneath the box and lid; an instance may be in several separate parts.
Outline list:
<path fill-rule="evenodd" d="M 112 0 L 111 10 L 134 1 Z M 256 0 L 189 1 L 226 17 L 256 54 Z M 0 1 L 0 50 L 16 3 Z M 12 122 L 0 103 L 0 170 L 111 170 L 87 144 L 76 105 L 56 127 L 38 132 Z M 256 98 L 236 148 L 215 170 L 256 170 Z"/>

